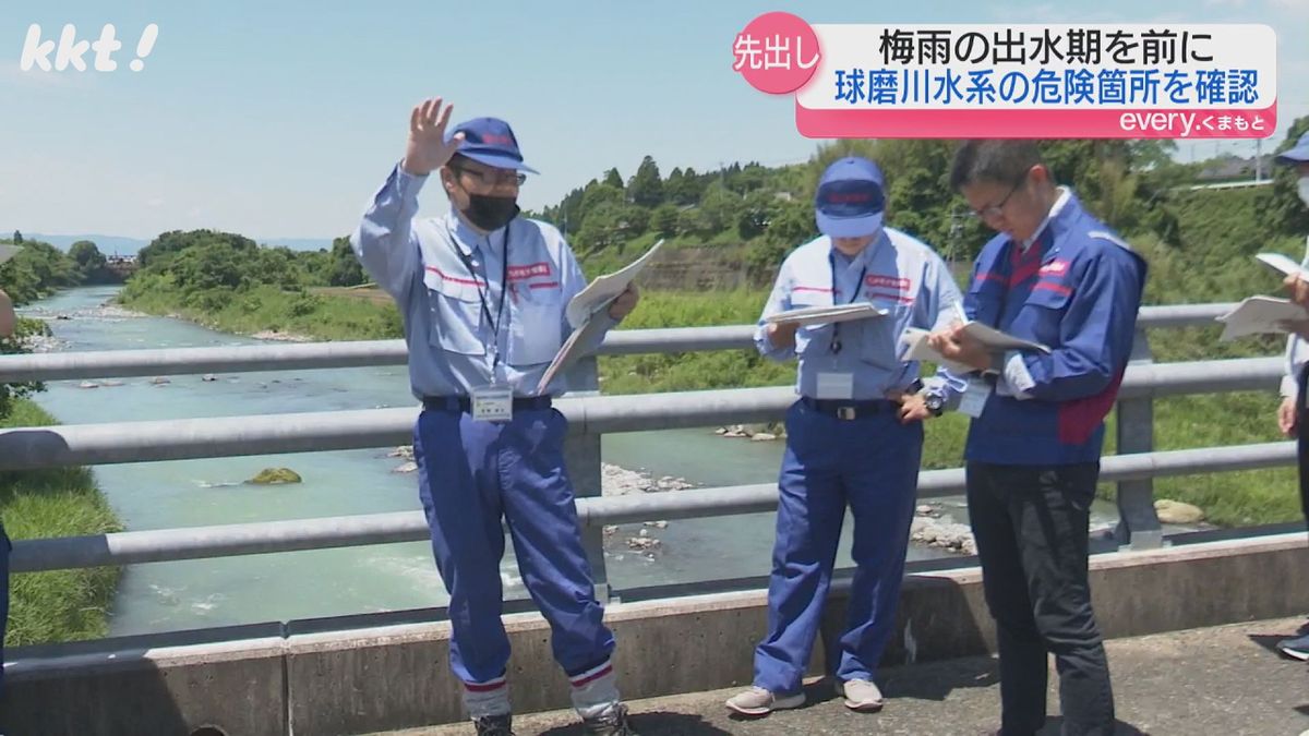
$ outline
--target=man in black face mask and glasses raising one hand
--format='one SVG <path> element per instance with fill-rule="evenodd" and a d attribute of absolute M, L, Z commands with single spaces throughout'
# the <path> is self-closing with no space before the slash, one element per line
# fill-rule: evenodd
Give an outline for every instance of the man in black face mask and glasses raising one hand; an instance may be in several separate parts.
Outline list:
<path fill-rule="evenodd" d="M 404 158 L 351 237 L 404 320 L 410 381 L 423 402 L 414 428 L 419 496 L 450 595 L 450 667 L 476 732 L 512 733 L 503 517 L 586 732 L 631 735 L 564 469 L 567 422 L 551 407 L 564 378 L 535 390 L 585 278 L 559 230 L 517 216 L 524 172 L 535 172 L 508 123 L 475 118 L 448 131 L 450 111 L 440 98 L 414 107 Z M 450 212 L 419 219 L 418 194 L 433 172 Z M 636 301 L 628 288 L 593 320 L 607 330 Z"/>

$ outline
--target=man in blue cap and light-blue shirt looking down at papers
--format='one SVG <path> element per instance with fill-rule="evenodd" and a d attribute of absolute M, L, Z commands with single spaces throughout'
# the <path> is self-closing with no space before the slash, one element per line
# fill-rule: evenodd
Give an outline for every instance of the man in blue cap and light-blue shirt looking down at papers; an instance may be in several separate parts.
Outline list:
<path fill-rule="evenodd" d="M 850 622 L 840 638 L 846 705 L 882 707 L 874 682 L 891 635 L 908 546 L 922 420 L 940 414 L 948 388 L 916 392 L 918 363 L 901 360 L 908 326 L 945 325 L 961 296 L 941 258 L 884 225 L 882 172 L 842 158 L 816 194 L 822 237 L 783 262 L 755 344 L 775 360 L 800 359 L 800 399 L 787 411 L 778 481 L 778 530 L 768 583 L 768 633 L 754 656 L 754 684 L 728 701 L 744 715 L 804 705 L 801 677 L 818 634 L 847 504 L 855 517 Z M 870 304 L 859 318 L 836 316 Z M 826 323 L 810 308 L 834 308 Z M 933 378 L 935 381 L 935 378 Z"/>

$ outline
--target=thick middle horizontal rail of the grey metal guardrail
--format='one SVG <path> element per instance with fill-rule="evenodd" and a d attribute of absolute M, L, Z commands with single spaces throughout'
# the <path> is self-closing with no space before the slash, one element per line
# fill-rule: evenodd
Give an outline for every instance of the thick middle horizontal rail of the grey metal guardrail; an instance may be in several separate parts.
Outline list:
<path fill-rule="evenodd" d="M 1130 365 L 1121 398 L 1149 399 L 1276 388 L 1278 358 Z M 789 386 L 560 398 L 571 435 L 770 422 L 796 401 Z M 407 444 L 418 406 L 0 430 L 0 470 L 280 454 Z"/>

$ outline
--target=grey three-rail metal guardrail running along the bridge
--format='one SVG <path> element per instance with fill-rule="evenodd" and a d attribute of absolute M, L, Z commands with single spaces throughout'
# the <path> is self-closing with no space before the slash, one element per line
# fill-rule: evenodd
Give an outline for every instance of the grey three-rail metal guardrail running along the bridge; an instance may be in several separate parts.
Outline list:
<path fill-rule="evenodd" d="M 1118 452 L 1102 462 L 1102 479 L 1119 483 L 1123 543 L 1161 543 L 1152 506 L 1151 479 L 1161 475 L 1244 470 L 1287 465 L 1292 443 L 1151 452 L 1152 401 L 1156 397 L 1268 390 L 1282 375 L 1278 358 L 1155 364 L 1144 329 L 1212 325 L 1230 304 L 1147 306 L 1141 309 L 1134 360 L 1119 393 Z M 601 354 L 736 350 L 751 347 L 753 326 L 665 330 L 620 330 Z M 109 376 L 154 376 L 233 371 L 276 371 L 398 365 L 406 360 L 403 340 L 300 343 L 223 348 L 124 350 L 0 356 L 0 376 L 9 381 L 71 380 Z M 593 359 L 579 365 L 576 385 L 594 389 Z M 558 402 L 569 419 L 569 469 L 588 554 L 600 588 L 606 588 L 601 526 L 654 519 L 694 519 L 767 512 L 776 508 L 774 485 L 669 491 L 639 496 L 600 496 L 600 436 L 766 422 L 795 401 L 789 386 L 726 389 L 637 396 L 580 392 Z M 407 444 L 418 407 L 258 416 L 225 416 L 107 424 L 22 427 L 0 431 L 0 470 L 65 465 L 103 465 L 321 452 Z M 920 474 L 920 495 L 963 490 L 962 469 Z M 132 564 L 240 554 L 418 541 L 427 537 L 419 512 L 306 519 L 90 537 L 24 540 L 14 543 L 12 568 L 18 572 Z"/>

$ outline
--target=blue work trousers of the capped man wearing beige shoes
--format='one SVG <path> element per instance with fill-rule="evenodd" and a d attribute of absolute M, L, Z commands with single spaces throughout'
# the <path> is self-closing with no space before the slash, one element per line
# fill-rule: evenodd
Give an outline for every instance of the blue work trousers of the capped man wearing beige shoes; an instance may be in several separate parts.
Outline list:
<path fill-rule="evenodd" d="M 778 482 L 768 635 L 755 650 L 755 685 L 784 694 L 800 690 L 847 504 L 857 567 L 836 677 L 873 680 L 895 619 L 922 454 L 922 422 L 901 424 L 894 409 L 839 419 L 804 399 L 791 406 Z"/>

